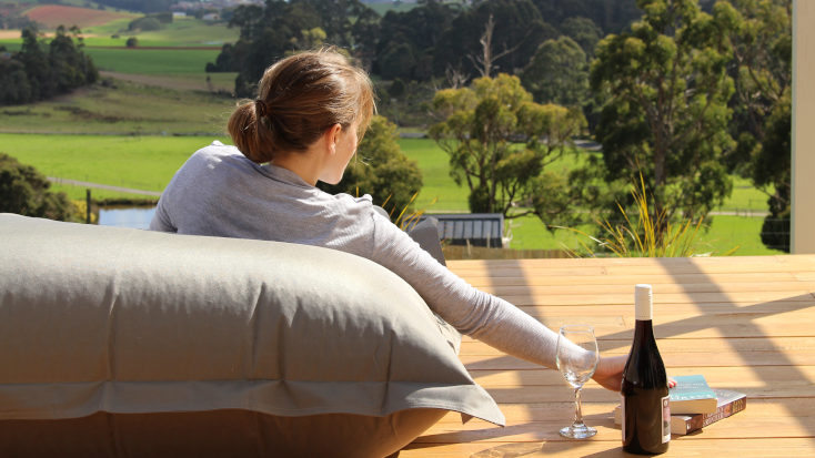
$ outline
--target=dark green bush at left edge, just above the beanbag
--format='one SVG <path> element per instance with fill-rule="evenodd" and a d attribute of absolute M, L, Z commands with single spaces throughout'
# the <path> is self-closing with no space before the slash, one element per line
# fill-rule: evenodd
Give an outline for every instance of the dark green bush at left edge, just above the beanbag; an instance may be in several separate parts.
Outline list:
<path fill-rule="evenodd" d="M 0 213 L 72 221 L 68 196 L 63 192 L 52 193 L 50 186 L 37 169 L 0 153 Z"/>

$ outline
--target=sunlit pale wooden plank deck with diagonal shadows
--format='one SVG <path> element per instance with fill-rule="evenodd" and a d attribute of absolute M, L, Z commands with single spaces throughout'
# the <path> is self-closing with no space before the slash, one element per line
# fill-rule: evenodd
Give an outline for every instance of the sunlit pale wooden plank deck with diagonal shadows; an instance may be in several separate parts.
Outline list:
<path fill-rule="evenodd" d="M 815 456 L 815 255 L 680 259 L 457 261 L 450 268 L 557 330 L 594 326 L 604 355 L 627 354 L 634 285 L 654 287 L 654 333 L 668 375 L 703 374 L 747 395 L 747 409 L 688 436 L 666 457 Z M 506 416 L 505 428 L 450 414 L 400 455 L 618 457 L 620 394 L 590 381 L 583 413 L 598 432 L 571 440 L 573 391 L 556 370 L 464 338 L 461 360 Z"/>

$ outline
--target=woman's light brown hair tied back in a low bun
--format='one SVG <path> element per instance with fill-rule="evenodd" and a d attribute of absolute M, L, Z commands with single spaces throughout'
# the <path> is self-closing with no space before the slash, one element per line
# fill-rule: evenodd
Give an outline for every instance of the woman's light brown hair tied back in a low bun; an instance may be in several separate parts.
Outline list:
<path fill-rule="evenodd" d="M 239 102 L 227 130 L 251 161 L 303 152 L 332 125 L 359 121 L 362 139 L 376 110 L 371 80 L 335 48 L 282 59 L 263 73 L 256 100 Z"/>

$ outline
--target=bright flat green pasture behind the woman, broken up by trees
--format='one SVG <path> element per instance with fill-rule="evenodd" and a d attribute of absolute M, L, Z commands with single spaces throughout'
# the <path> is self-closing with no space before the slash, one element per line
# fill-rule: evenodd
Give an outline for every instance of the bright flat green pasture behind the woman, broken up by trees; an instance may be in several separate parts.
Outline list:
<path fill-rule="evenodd" d="M 21 135 L 0 134 L 0 152 L 18 157 L 20 162 L 34 165 L 50 176 L 61 176 L 133 187 L 161 191 L 172 179 L 175 171 L 198 149 L 209 144 L 214 138 L 164 138 L 164 136 L 104 136 L 104 135 Z M 224 143 L 227 138 L 218 139 Z M 447 175 L 446 155 L 431 140 L 401 140 L 405 154 L 417 160 L 424 176 L 424 189 L 419 206 L 440 197 L 431 210 L 466 210 L 466 191 L 453 183 Z M 567 166 L 575 159 L 567 157 L 561 165 Z M 54 190 L 66 191 L 72 199 L 83 199 L 84 189 L 56 185 Z M 736 190 L 735 200 L 743 200 Z M 93 190 L 97 199 L 118 197 L 120 193 Z M 128 196 L 138 197 L 129 194 Z M 374 202 L 376 197 L 374 197 Z M 767 250 L 761 243 L 763 218 L 743 216 L 713 216 L 708 230 L 697 238 L 710 243 L 703 251 L 722 254 L 741 245 L 737 255 L 766 255 L 781 252 Z M 563 242 L 570 248 L 578 247 L 575 234 L 564 230 L 547 231 L 535 216 L 515 218 L 512 223 L 512 247 L 519 250 L 557 250 Z M 577 227 L 593 233 L 593 227 Z M 591 246 L 588 240 L 584 243 Z"/>

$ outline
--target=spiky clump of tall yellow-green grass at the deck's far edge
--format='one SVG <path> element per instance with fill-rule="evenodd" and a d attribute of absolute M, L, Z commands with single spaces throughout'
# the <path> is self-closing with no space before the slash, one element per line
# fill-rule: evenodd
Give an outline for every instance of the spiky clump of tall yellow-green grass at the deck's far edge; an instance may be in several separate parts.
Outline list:
<path fill-rule="evenodd" d="M 693 257 L 711 256 L 717 252 L 710 242 L 703 242 L 700 237 L 700 228 L 703 227 L 702 218 L 696 223 L 692 220 L 682 220 L 674 223 L 670 221 L 666 208 L 663 208 L 661 212 L 654 211 L 654 216 L 652 217 L 642 173 L 640 173 L 640 183 L 634 183 L 632 196 L 636 203 L 637 211 L 635 221 L 628 217 L 625 208 L 618 202 L 617 207 L 623 214 L 623 218 L 625 220 L 624 224 L 612 224 L 605 217 L 603 221 L 595 220 L 605 233 L 605 237 L 597 238 L 571 227 L 552 227 L 564 228 L 581 234 L 595 242 L 598 248 L 608 251 L 617 257 Z M 583 243 L 583 241 L 578 240 L 577 242 L 590 257 L 597 257 L 594 251 Z M 561 245 L 563 245 L 570 256 L 584 257 L 563 243 Z M 712 251 L 706 251 L 711 248 Z M 736 246 L 724 253 L 723 256 L 730 256 L 738 248 L 739 246 Z"/>

